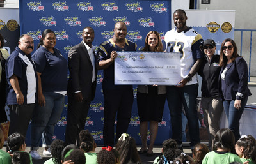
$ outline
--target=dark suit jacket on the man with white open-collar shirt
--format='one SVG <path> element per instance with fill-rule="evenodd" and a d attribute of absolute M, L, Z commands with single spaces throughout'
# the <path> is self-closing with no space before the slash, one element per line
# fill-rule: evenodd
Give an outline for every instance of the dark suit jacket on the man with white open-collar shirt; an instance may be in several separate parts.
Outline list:
<path fill-rule="evenodd" d="M 97 57 L 95 57 L 95 63 Z M 81 91 L 83 99 L 92 101 L 95 96 L 96 80 L 92 83 L 92 62 L 88 51 L 83 42 L 72 47 L 68 53 L 68 69 L 70 76 L 68 79 L 67 94 L 74 96 L 76 91 Z M 97 70 L 95 66 L 95 76 L 97 78 Z"/>

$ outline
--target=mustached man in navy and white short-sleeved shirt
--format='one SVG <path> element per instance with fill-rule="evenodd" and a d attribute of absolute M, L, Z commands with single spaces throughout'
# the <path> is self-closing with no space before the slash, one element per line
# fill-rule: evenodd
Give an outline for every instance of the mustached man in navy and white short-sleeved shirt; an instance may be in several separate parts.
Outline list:
<path fill-rule="evenodd" d="M 11 120 L 9 135 L 19 132 L 26 136 L 37 100 L 36 68 L 30 56 L 33 49 L 33 38 L 28 34 L 22 34 L 18 47 L 6 60 L 6 102 L 10 107 Z"/>

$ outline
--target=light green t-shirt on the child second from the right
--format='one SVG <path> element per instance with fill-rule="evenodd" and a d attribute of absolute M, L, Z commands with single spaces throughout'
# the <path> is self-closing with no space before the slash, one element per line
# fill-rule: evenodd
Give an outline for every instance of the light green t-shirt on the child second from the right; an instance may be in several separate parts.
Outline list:
<path fill-rule="evenodd" d="M 232 153 L 218 154 L 218 153 L 215 153 L 214 151 L 211 151 L 205 155 L 202 164 L 216 164 L 216 163 L 229 164 L 234 161 L 242 163 L 239 156 L 237 156 L 236 154 L 232 154 Z"/>

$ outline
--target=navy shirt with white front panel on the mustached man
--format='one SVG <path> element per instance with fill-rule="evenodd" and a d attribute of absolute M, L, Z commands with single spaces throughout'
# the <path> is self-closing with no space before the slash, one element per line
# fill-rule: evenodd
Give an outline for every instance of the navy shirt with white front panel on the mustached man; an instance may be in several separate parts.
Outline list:
<path fill-rule="evenodd" d="M 36 67 L 30 54 L 24 54 L 19 47 L 16 47 L 6 60 L 6 80 L 8 82 L 6 101 L 8 105 L 17 104 L 16 93 L 10 83 L 12 75 L 18 78 L 20 91 L 24 96 L 24 104 L 35 103 L 38 86 Z"/>

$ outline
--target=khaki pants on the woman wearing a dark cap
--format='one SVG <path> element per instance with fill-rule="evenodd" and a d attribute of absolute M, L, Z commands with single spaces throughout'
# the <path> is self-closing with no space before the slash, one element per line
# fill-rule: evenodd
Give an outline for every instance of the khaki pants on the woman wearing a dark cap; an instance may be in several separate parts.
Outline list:
<path fill-rule="evenodd" d="M 202 97 L 202 108 L 204 111 L 204 121 L 209 133 L 209 148 L 213 151 L 213 141 L 218 130 L 220 130 L 220 119 L 223 112 L 223 103 L 220 97 Z"/>

